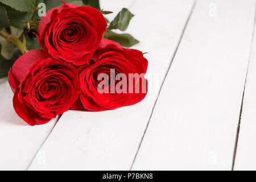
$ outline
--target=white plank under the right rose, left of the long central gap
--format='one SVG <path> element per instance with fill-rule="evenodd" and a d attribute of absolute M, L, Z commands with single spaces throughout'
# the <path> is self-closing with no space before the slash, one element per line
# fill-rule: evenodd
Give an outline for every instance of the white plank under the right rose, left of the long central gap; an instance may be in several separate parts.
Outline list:
<path fill-rule="evenodd" d="M 139 104 L 100 113 L 68 111 L 63 114 L 29 169 L 130 169 L 160 84 L 170 65 L 193 1 L 139 0 L 133 3 L 130 34 L 138 38 L 136 48 L 150 52 L 150 93 Z"/>

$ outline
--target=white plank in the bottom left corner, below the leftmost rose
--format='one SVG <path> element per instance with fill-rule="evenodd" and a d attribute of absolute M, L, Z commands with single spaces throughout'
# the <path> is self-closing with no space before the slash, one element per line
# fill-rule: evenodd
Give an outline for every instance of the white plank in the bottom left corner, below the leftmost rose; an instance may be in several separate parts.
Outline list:
<path fill-rule="evenodd" d="M 7 78 L 0 79 L 0 170 L 26 170 L 51 132 L 56 119 L 29 126 L 13 109 L 13 92 Z"/>

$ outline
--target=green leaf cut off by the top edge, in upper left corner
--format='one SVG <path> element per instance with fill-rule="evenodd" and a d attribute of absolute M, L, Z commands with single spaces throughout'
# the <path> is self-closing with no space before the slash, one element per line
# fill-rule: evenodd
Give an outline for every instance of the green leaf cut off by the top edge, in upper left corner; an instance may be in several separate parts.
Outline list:
<path fill-rule="evenodd" d="M 35 7 L 35 0 L 0 0 L 0 2 L 17 11 L 33 11 Z"/>

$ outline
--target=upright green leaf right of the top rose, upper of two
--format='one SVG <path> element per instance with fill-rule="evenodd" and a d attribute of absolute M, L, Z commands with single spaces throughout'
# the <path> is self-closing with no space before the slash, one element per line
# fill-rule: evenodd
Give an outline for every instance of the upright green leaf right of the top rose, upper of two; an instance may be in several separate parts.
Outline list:
<path fill-rule="evenodd" d="M 121 31 L 125 31 L 129 26 L 130 20 L 133 18 L 133 16 L 134 15 L 131 14 L 128 9 L 123 8 L 110 23 L 110 30 L 118 28 Z"/>

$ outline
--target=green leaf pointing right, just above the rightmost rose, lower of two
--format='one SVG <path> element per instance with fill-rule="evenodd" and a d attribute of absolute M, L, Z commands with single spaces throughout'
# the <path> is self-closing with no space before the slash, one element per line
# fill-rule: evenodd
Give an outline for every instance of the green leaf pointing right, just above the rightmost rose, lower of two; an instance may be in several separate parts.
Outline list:
<path fill-rule="evenodd" d="M 139 43 L 139 41 L 130 34 L 117 34 L 113 31 L 106 32 L 106 39 L 114 40 L 123 47 L 131 47 Z"/>

